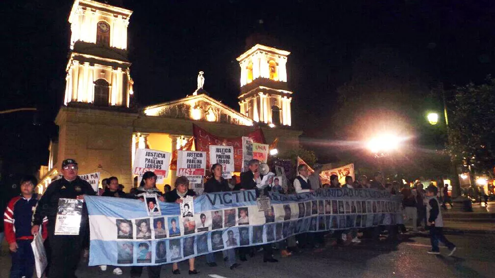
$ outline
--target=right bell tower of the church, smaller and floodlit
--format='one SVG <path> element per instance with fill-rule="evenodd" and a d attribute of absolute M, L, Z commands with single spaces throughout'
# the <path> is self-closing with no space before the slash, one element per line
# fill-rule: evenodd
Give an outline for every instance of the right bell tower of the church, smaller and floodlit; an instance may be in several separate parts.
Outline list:
<path fill-rule="evenodd" d="M 287 89 L 289 51 L 261 44 L 237 58 L 241 68 L 240 113 L 270 127 L 290 126 L 292 92 Z"/>

